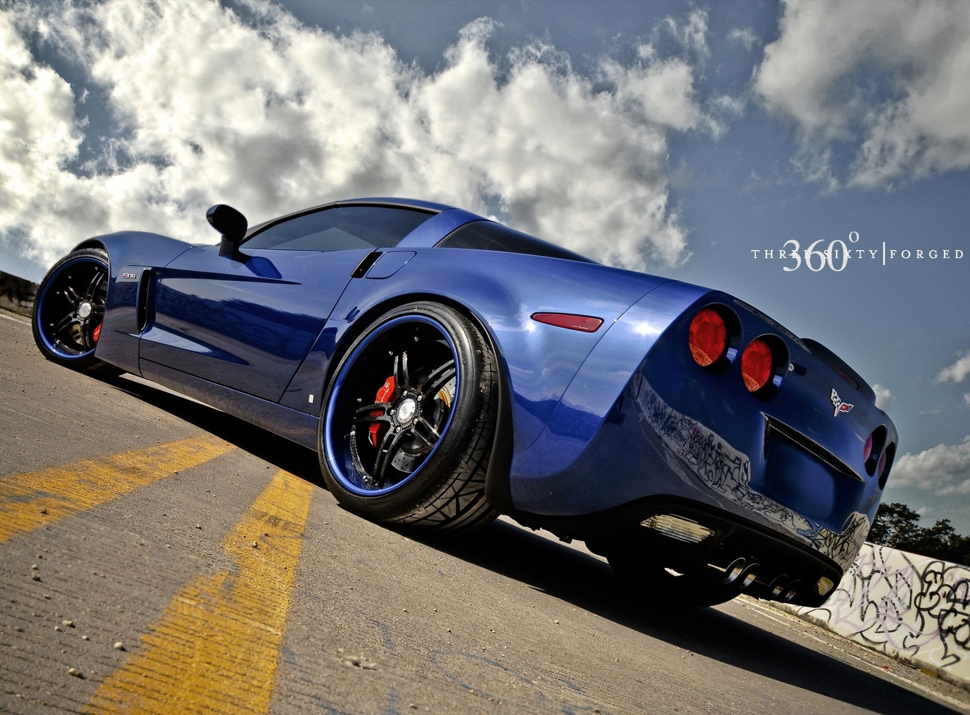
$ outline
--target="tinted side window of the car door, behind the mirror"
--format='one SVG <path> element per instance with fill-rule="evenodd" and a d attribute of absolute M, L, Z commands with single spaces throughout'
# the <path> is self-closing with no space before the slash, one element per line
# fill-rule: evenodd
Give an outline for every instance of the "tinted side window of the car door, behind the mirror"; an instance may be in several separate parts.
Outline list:
<path fill-rule="evenodd" d="M 280 221 L 248 239 L 246 248 L 351 250 L 387 248 L 435 215 L 386 206 L 336 206 Z"/>

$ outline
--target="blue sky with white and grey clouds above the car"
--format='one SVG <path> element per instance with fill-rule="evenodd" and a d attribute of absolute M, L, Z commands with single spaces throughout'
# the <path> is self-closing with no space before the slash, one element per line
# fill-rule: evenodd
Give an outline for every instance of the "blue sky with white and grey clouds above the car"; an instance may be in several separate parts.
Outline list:
<path fill-rule="evenodd" d="M 216 203 L 495 215 L 824 341 L 886 499 L 970 533 L 970 3 L 14 3 L 0 74 L 0 270 Z"/>

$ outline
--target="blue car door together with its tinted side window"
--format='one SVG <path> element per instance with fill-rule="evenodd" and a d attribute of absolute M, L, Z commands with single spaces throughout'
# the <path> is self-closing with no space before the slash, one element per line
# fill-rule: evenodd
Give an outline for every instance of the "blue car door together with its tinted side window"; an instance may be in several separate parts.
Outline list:
<path fill-rule="evenodd" d="M 354 268 L 432 215 L 336 206 L 271 224 L 235 258 L 191 248 L 160 272 L 140 360 L 278 402 Z"/>

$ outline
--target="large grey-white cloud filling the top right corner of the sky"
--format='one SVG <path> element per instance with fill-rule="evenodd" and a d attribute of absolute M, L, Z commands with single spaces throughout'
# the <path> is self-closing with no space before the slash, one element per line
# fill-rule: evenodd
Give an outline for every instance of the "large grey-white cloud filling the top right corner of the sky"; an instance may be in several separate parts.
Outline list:
<path fill-rule="evenodd" d="M 849 142 L 847 182 L 871 187 L 970 167 L 967 76 L 970 3 L 787 0 L 754 84 L 805 151 Z"/>

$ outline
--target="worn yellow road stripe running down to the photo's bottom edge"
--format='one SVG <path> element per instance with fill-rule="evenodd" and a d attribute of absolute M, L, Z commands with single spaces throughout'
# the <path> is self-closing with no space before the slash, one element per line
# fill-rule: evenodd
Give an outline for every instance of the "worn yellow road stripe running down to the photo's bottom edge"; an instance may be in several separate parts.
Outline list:
<path fill-rule="evenodd" d="M 268 712 L 312 491 L 276 472 L 222 542 L 237 569 L 182 587 L 85 710 Z"/>

